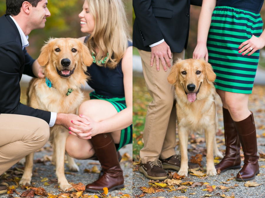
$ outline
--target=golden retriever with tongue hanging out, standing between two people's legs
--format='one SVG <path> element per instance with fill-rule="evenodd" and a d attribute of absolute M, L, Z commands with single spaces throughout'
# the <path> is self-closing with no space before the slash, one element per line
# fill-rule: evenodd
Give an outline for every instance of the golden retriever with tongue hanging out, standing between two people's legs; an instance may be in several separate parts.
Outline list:
<path fill-rule="evenodd" d="M 188 176 L 188 136 L 189 133 L 205 132 L 206 174 L 216 175 L 213 154 L 223 158 L 217 148 L 215 87 L 216 78 L 211 65 L 204 60 L 178 60 L 172 67 L 168 82 L 175 87 L 177 100 L 177 120 L 181 164 L 178 175 Z"/>

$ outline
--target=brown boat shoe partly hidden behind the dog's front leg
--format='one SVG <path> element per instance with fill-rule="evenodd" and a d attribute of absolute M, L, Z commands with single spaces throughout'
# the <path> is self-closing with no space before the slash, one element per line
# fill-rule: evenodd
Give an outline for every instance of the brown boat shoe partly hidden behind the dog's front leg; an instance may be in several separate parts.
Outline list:
<path fill-rule="evenodd" d="M 179 170 L 180 169 L 180 155 L 173 155 L 169 160 L 163 160 L 159 159 L 162 162 L 163 169 L 173 169 L 173 170 Z M 200 166 L 195 163 L 188 163 L 188 172 L 191 172 L 191 169 L 193 170 L 199 170 Z"/>

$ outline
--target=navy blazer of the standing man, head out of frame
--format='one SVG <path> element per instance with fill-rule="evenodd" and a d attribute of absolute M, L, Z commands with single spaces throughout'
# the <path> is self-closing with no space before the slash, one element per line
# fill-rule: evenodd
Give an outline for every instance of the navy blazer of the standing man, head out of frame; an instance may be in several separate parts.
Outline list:
<path fill-rule="evenodd" d="M 188 44 L 190 4 L 201 6 L 202 0 L 133 0 L 132 45 L 151 52 L 149 45 L 164 39 L 171 52 L 182 52 Z"/>

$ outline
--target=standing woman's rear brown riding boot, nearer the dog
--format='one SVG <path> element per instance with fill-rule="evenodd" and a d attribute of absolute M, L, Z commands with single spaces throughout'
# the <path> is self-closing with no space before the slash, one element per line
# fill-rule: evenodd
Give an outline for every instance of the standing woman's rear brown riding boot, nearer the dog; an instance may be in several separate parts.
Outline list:
<path fill-rule="evenodd" d="M 224 158 L 215 165 L 216 170 L 220 169 L 221 172 L 225 172 L 233 168 L 241 168 L 240 159 L 240 140 L 237 135 L 235 123 L 228 111 L 223 108 L 223 126 L 224 136 L 226 142 L 226 155 Z"/>

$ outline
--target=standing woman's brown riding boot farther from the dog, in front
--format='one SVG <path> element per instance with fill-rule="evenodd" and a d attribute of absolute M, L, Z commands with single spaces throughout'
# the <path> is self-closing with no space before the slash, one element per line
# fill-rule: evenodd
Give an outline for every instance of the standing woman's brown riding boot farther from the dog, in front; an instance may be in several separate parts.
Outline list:
<path fill-rule="evenodd" d="M 253 180 L 259 173 L 259 156 L 257 155 L 256 126 L 253 112 L 251 112 L 250 116 L 246 119 L 234 123 L 245 156 L 244 166 L 236 175 L 236 180 Z"/>

